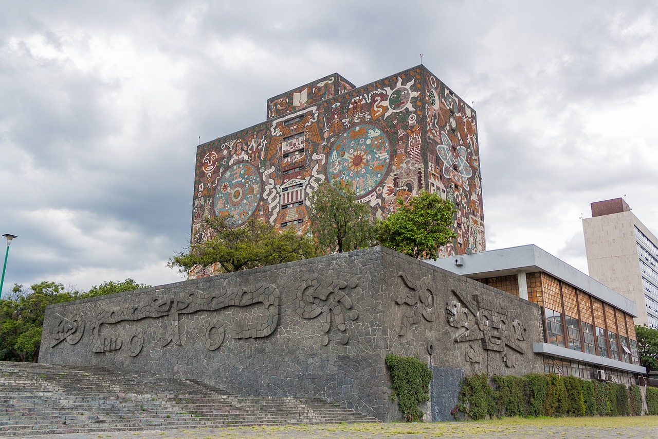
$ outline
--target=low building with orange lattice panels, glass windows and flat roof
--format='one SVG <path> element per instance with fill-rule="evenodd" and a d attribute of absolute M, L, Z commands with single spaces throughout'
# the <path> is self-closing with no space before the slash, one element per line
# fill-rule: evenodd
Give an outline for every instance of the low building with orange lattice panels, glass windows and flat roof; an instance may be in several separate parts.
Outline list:
<path fill-rule="evenodd" d="M 542 307 L 547 373 L 635 384 L 635 303 L 535 245 L 427 260 Z M 601 372 L 602 371 L 602 372 Z"/>

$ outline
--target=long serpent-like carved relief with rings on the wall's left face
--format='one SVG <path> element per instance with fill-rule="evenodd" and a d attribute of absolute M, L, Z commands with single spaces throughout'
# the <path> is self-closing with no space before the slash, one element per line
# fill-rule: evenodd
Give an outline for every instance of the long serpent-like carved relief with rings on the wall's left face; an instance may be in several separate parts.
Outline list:
<path fill-rule="evenodd" d="M 141 353 L 145 344 L 142 330 L 135 328 L 126 340 L 104 337 L 103 330 L 120 322 L 136 322 L 144 318 L 163 319 L 166 322 L 163 347 L 170 344 L 182 345 L 181 314 L 216 311 L 228 307 L 243 308 L 238 313 L 237 322 L 232 328 L 233 338 L 267 337 L 278 326 L 280 294 L 274 285 L 260 283 L 244 288 L 229 288 L 219 293 L 205 293 L 197 290 L 188 295 L 155 295 L 143 299 L 141 303 L 128 304 L 118 310 L 103 310 L 91 326 L 92 350 L 93 352 L 108 352 L 124 347 L 131 357 L 136 357 Z M 226 336 L 226 328 L 220 323 L 218 316 L 205 319 L 200 325 L 205 336 L 205 347 L 211 351 L 218 349 L 224 343 Z M 80 325 L 78 325 L 79 327 Z M 66 328 L 68 326 L 61 324 L 61 330 L 56 334 L 59 335 L 59 341 L 74 334 L 74 332 L 66 332 Z M 82 330 L 84 330 L 84 322 Z"/>

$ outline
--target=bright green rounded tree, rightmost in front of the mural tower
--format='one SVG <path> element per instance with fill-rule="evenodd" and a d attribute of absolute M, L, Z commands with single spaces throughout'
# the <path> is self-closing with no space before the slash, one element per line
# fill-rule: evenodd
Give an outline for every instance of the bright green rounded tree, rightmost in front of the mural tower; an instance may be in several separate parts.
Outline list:
<path fill-rule="evenodd" d="M 407 204 L 402 198 L 397 204 L 397 212 L 377 223 L 377 237 L 385 247 L 413 258 L 434 258 L 457 237 L 452 229 L 457 209 L 438 194 L 421 190 Z"/>

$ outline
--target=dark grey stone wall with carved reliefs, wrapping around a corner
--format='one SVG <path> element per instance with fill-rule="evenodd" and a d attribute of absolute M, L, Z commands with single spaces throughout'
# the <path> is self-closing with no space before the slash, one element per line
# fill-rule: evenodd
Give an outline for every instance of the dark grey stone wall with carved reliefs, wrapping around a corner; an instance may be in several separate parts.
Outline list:
<path fill-rule="evenodd" d="M 392 421 L 384 358 L 415 356 L 440 420 L 464 374 L 542 371 L 540 340 L 536 305 L 374 247 L 52 305 L 39 362 L 320 396 Z"/>

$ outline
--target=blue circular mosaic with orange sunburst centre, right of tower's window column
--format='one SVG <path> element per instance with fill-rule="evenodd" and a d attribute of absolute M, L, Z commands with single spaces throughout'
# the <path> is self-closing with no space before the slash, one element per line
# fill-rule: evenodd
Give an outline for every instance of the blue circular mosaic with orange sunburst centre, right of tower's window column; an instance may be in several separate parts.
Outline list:
<path fill-rule="evenodd" d="M 357 196 L 375 189 L 386 175 L 390 156 L 388 139 L 373 125 L 356 125 L 343 132 L 329 156 L 327 176 L 352 183 Z"/>

